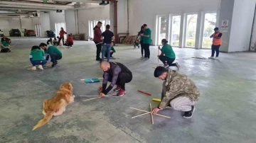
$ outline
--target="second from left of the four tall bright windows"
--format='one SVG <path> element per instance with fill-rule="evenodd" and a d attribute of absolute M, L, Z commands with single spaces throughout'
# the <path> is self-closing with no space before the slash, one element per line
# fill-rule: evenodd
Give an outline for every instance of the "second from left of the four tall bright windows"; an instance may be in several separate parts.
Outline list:
<path fill-rule="evenodd" d="M 171 45 L 178 46 L 181 29 L 181 16 L 172 16 L 171 28 Z"/>

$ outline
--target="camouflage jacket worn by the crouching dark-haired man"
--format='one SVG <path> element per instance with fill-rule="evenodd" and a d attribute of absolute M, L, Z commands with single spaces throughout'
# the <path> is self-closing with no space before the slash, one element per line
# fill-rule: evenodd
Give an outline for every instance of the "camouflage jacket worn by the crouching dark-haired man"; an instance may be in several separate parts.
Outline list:
<path fill-rule="evenodd" d="M 159 108 L 166 108 L 170 105 L 171 100 L 179 96 L 186 96 L 191 101 L 198 101 L 199 95 L 198 88 L 191 79 L 188 79 L 188 76 L 168 70 L 166 81 L 163 83 Z"/>

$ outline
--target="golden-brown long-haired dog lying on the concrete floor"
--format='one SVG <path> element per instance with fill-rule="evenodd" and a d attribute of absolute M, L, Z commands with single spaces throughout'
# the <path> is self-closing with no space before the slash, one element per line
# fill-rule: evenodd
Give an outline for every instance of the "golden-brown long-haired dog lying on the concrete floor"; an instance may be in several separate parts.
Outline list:
<path fill-rule="evenodd" d="M 73 86 L 68 82 L 62 84 L 53 98 L 43 102 L 43 115 L 45 116 L 33 127 L 33 130 L 45 125 L 51 118 L 53 118 L 53 115 L 61 115 L 65 111 L 65 107 L 69 103 L 74 102 L 74 97 Z"/>

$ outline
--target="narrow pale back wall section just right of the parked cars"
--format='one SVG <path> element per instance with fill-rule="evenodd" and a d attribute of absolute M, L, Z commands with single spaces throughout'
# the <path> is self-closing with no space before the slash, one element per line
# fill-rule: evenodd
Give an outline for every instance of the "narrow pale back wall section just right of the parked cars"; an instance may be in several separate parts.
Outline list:
<path fill-rule="evenodd" d="M 40 24 L 42 36 L 44 37 L 46 30 L 50 29 L 50 13 L 40 13 Z M 54 30 L 54 29 L 53 29 Z"/>

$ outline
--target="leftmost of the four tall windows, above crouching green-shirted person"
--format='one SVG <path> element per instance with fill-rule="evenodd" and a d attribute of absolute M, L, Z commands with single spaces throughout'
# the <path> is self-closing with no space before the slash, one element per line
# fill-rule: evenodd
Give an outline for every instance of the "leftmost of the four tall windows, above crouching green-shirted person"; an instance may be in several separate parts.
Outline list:
<path fill-rule="evenodd" d="M 167 16 L 159 16 L 159 45 L 161 40 L 166 39 L 166 28 L 167 28 Z"/>

